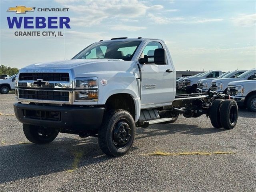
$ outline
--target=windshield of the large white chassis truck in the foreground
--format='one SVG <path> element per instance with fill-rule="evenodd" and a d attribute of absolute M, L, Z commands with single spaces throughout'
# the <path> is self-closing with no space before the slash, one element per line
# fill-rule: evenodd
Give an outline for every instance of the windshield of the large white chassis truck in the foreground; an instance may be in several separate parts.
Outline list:
<path fill-rule="evenodd" d="M 141 41 L 108 41 L 94 43 L 72 59 L 122 59 L 132 60 Z"/>

